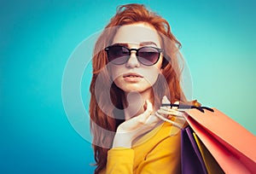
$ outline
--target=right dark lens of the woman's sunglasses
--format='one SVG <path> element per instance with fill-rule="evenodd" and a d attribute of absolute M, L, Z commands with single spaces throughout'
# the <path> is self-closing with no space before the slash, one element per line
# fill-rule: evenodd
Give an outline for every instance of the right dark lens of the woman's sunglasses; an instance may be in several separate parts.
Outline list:
<path fill-rule="evenodd" d="M 143 47 L 142 49 L 139 49 L 137 55 L 137 58 L 141 63 L 143 63 L 143 65 L 151 66 L 158 61 L 160 53 L 157 49 Z"/>

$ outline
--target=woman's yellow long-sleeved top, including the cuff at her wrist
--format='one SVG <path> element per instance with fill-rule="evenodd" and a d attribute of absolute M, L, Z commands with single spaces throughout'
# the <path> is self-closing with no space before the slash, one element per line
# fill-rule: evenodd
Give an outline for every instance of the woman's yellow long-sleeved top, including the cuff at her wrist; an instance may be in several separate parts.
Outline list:
<path fill-rule="evenodd" d="M 177 132 L 176 135 L 170 136 L 171 131 Z M 180 142 L 180 131 L 165 122 L 148 132 L 132 148 L 108 150 L 107 166 L 100 173 L 181 173 Z"/>

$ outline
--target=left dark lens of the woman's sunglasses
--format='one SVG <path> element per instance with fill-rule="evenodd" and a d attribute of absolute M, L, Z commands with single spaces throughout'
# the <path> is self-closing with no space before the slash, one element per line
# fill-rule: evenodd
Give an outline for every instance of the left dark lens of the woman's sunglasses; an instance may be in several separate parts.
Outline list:
<path fill-rule="evenodd" d="M 108 61 L 121 65 L 129 59 L 129 50 L 122 46 L 112 46 L 108 48 Z"/>

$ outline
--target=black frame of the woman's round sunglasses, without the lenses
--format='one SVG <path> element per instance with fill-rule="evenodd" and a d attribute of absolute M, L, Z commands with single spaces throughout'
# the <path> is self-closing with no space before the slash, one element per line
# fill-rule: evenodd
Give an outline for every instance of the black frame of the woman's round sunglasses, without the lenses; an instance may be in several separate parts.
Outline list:
<path fill-rule="evenodd" d="M 153 66 L 154 64 L 156 64 L 157 61 L 159 61 L 159 59 L 160 59 L 160 53 L 163 52 L 162 49 L 159 49 L 159 48 L 156 48 L 156 47 L 153 47 L 153 46 L 143 46 L 143 47 L 141 47 L 141 48 L 139 48 L 139 49 L 128 49 L 127 47 L 125 47 L 125 46 L 123 46 L 123 45 L 111 45 L 111 46 L 108 46 L 107 48 L 104 49 L 104 50 L 107 52 L 107 55 L 108 55 L 109 49 L 111 49 L 112 47 L 121 47 L 121 48 L 125 48 L 125 49 L 127 49 L 127 50 L 129 51 L 129 57 L 126 59 L 126 61 L 125 61 L 124 63 L 120 63 L 120 64 L 113 63 L 114 65 L 124 65 L 124 64 L 130 59 L 131 51 L 134 50 L 134 51 L 136 51 L 137 61 L 139 61 L 139 62 L 140 62 L 141 64 L 143 64 L 144 66 Z M 138 56 L 138 51 L 139 51 L 140 49 L 144 49 L 144 48 L 151 48 L 151 49 L 157 50 L 157 53 L 158 53 L 159 55 L 158 55 L 157 60 L 156 60 L 153 64 L 150 64 L 150 65 L 144 64 L 144 63 L 139 59 L 140 56 Z M 146 58 L 143 57 L 143 59 L 146 59 Z M 113 60 L 114 60 L 114 59 L 113 59 Z M 108 61 L 109 61 L 109 56 L 108 56 Z"/>

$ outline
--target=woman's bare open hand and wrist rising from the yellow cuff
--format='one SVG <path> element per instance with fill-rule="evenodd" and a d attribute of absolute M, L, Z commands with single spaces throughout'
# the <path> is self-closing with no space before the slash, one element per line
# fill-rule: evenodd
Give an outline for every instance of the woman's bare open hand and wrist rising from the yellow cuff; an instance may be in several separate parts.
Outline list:
<path fill-rule="evenodd" d="M 138 136 L 152 130 L 160 120 L 153 112 L 152 103 L 146 101 L 146 110 L 144 113 L 126 120 L 119 125 L 116 135 L 113 138 L 113 147 L 131 148 L 131 142 Z"/>

